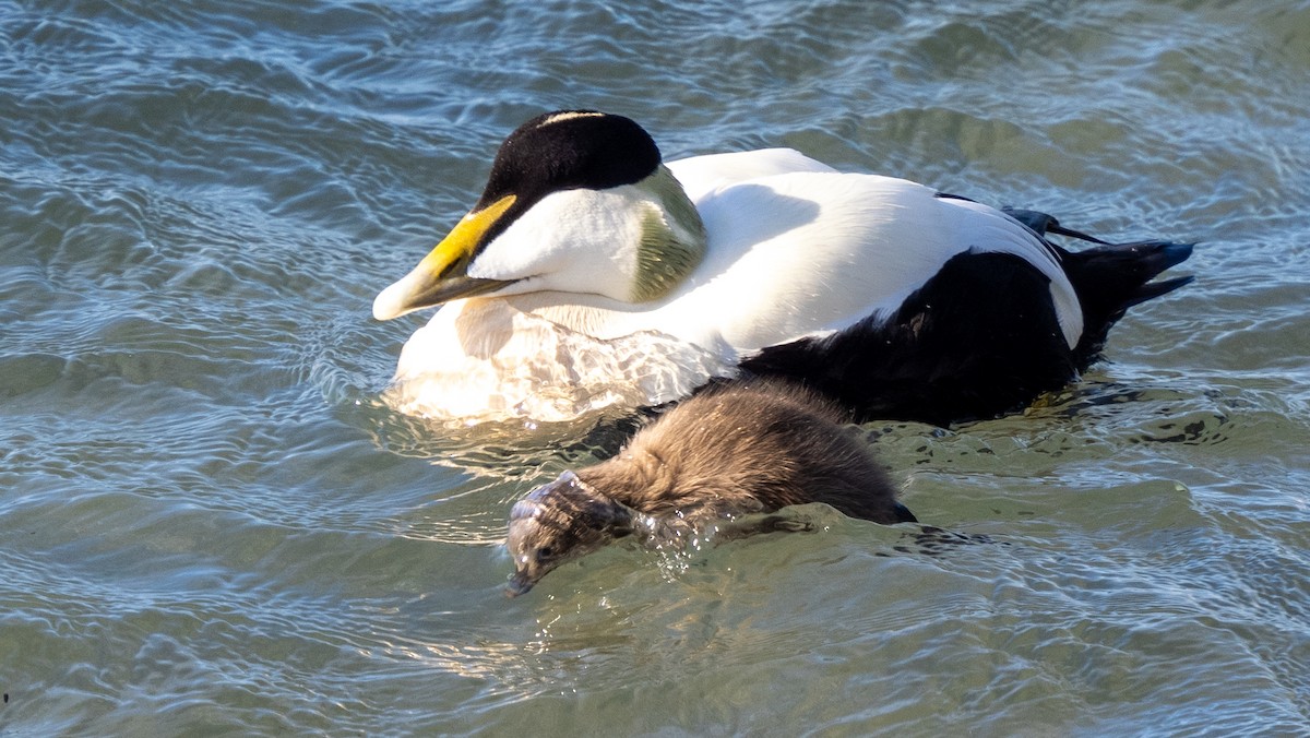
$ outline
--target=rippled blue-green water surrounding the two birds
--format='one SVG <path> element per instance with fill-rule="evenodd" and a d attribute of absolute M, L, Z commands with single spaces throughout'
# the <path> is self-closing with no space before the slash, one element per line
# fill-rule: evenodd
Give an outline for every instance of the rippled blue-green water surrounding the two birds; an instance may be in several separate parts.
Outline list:
<path fill-rule="evenodd" d="M 1310 4 L 0 0 L 0 734 L 1310 731 Z M 506 600 L 622 423 L 380 400 L 500 138 L 790 146 L 1203 241 L 1028 413 L 832 515 Z"/>

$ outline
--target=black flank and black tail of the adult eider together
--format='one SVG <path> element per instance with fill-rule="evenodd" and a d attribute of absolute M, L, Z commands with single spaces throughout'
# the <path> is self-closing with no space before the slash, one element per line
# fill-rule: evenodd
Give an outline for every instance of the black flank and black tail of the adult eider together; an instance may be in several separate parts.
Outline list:
<path fill-rule="evenodd" d="M 1045 275 L 1020 257 L 971 250 L 947 261 L 889 320 L 766 347 L 741 362 L 743 370 L 804 384 L 855 409 L 861 419 L 948 425 L 990 418 L 1064 387 L 1100 357 L 1128 308 L 1192 281 L 1151 282 L 1186 261 L 1192 244 L 1108 244 L 1044 212 L 1005 212 L 1061 261 L 1082 305 L 1074 349 L 1060 330 Z M 1095 245 L 1070 252 L 1048 233 Z"/>

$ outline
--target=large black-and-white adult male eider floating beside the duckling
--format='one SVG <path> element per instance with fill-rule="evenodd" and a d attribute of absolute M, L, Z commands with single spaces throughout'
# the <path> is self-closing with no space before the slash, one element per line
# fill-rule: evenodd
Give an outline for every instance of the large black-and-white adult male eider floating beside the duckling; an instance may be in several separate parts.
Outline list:
<path fill-rule="evenodd" d="M 1068 383 L 1124 311 L 1189 282 L 1150 281 L 1191 252 L 791 149 L 665 165 L 635 122 L 566 110 L 510 134 L 373 316 L 445 304 L 401 353 L 390 400 L 410 414 L 559 419 L 773 375 L 862 418 L 948 423 Z"/>

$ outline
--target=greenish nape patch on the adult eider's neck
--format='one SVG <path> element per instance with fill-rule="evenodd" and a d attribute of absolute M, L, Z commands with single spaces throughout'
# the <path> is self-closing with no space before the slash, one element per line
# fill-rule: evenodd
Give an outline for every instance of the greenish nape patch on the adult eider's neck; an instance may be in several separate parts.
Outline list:
<path fill-rule="evenodd" d="M 705 224 L 683 185 L 663 164 L 638 186 L 655 195 L 642 218 L 631 300 L 668 295 L 705 258 Z"/>

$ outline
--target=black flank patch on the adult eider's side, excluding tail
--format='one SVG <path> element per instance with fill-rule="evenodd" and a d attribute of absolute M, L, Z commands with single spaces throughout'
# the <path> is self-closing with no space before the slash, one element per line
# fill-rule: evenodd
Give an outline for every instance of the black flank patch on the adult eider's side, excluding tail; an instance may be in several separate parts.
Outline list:
<path fill-rule="evenodd" d="M 770 346 L 744 360 L 837 400 L 859 419 L 989 418 L 1077 372 L 1049 279 L 1020 257 L 967 252 L 884 322 Z"/>

